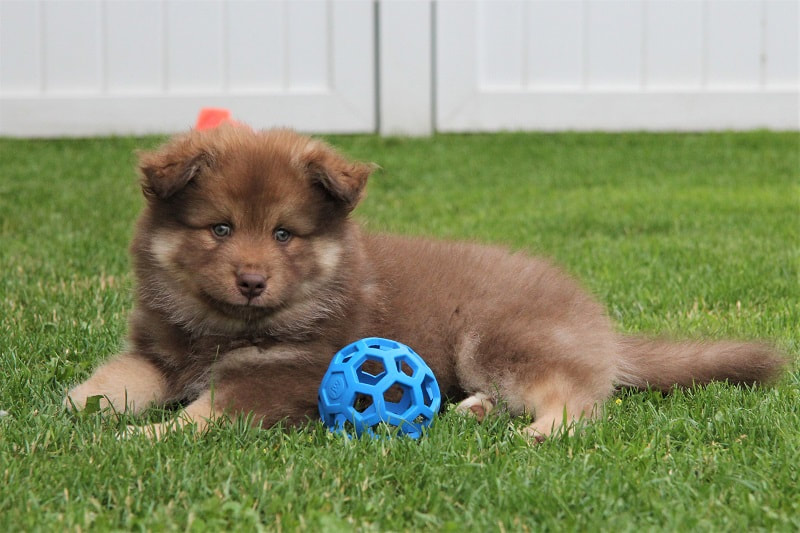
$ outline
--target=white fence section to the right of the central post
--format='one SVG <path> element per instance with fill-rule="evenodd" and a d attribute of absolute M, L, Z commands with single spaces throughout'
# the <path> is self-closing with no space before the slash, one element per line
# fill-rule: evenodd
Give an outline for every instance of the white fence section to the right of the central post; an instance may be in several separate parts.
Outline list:
<path fill-rule="evenodd" d="M 796 0 L 442 0 L 436 127 L 798 129 Z"/>

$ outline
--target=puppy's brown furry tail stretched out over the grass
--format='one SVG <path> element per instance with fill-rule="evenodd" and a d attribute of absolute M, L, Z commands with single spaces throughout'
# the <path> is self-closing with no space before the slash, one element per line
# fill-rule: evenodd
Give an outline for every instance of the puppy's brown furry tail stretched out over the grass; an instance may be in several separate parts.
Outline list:
<path fill-rule="evenodd" d="M 788 362 L 766 344 L 752 342 L 672 342 L 622 337 L 618 384 L 667 391 L 709 381 L 768 383 Z"/>

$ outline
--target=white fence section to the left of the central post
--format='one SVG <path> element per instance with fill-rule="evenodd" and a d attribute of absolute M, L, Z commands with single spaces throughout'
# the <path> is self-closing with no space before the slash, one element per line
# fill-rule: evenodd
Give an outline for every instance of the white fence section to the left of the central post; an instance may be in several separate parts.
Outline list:
<path fill-rule="evenodd" d="M 0 135 L 373 131 L 370 0 L 0 0 Z"/>

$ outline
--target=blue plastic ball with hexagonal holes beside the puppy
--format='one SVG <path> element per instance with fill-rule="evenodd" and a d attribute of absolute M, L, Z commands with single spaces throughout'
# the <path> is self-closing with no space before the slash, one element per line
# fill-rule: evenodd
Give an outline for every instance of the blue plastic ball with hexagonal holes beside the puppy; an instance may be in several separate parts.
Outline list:
<path fill-rule="evenodd" d="M 319 414 L 331 431 L 373 435 L 385 423 L 418 438 L 442 397 L 433 371 L 405 344 L 370 337 L 333 357 L 319 388 Z"/>

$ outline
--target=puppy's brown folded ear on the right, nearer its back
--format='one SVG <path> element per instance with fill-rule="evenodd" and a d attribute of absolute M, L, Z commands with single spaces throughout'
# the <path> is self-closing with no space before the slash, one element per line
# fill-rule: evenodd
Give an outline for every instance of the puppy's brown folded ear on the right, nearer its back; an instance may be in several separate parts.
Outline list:
<path fill-rule="evenodd" d="M 303 157 L 311 180 L 339 202 L 348 212 L 364 196 L 367 178 L 378 168 L 373 163 L 349 161 L 330 146 L 314 141 Z"/>

